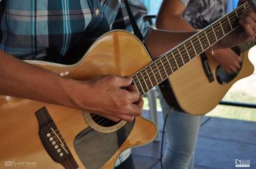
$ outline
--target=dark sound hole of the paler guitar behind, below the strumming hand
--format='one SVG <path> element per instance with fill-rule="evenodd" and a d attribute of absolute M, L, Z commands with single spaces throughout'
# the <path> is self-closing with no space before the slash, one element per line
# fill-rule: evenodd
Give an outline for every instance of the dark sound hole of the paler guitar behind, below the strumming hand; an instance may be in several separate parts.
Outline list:
<path fill-rule="evenodd" d="M 237 74 L 239 74 L 239 72 L 240 70 L 237 70 L 237 72 L 229 74 L 225 69 L 219 66 L 216 69 L 216 79 L 218 80 L 219 84 L 227 84 L 231 82 L 234 77 L 237 77 Z"/>

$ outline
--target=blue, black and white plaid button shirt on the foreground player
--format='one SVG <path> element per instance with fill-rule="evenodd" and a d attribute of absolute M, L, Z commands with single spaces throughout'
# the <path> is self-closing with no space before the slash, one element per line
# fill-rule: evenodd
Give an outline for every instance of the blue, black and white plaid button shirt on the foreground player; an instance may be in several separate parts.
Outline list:
<path fill-rule="evenodd" d="M 63 57 L 81 32 L 93 29 L 103 16 L 108 29 L 132 27 L 123 0 L 0 0 L 0 49 L 19 59 L 45 59 L 47 49 Z M 145 6 L 129 1 L 143 35 L 149 32 Z"/>

